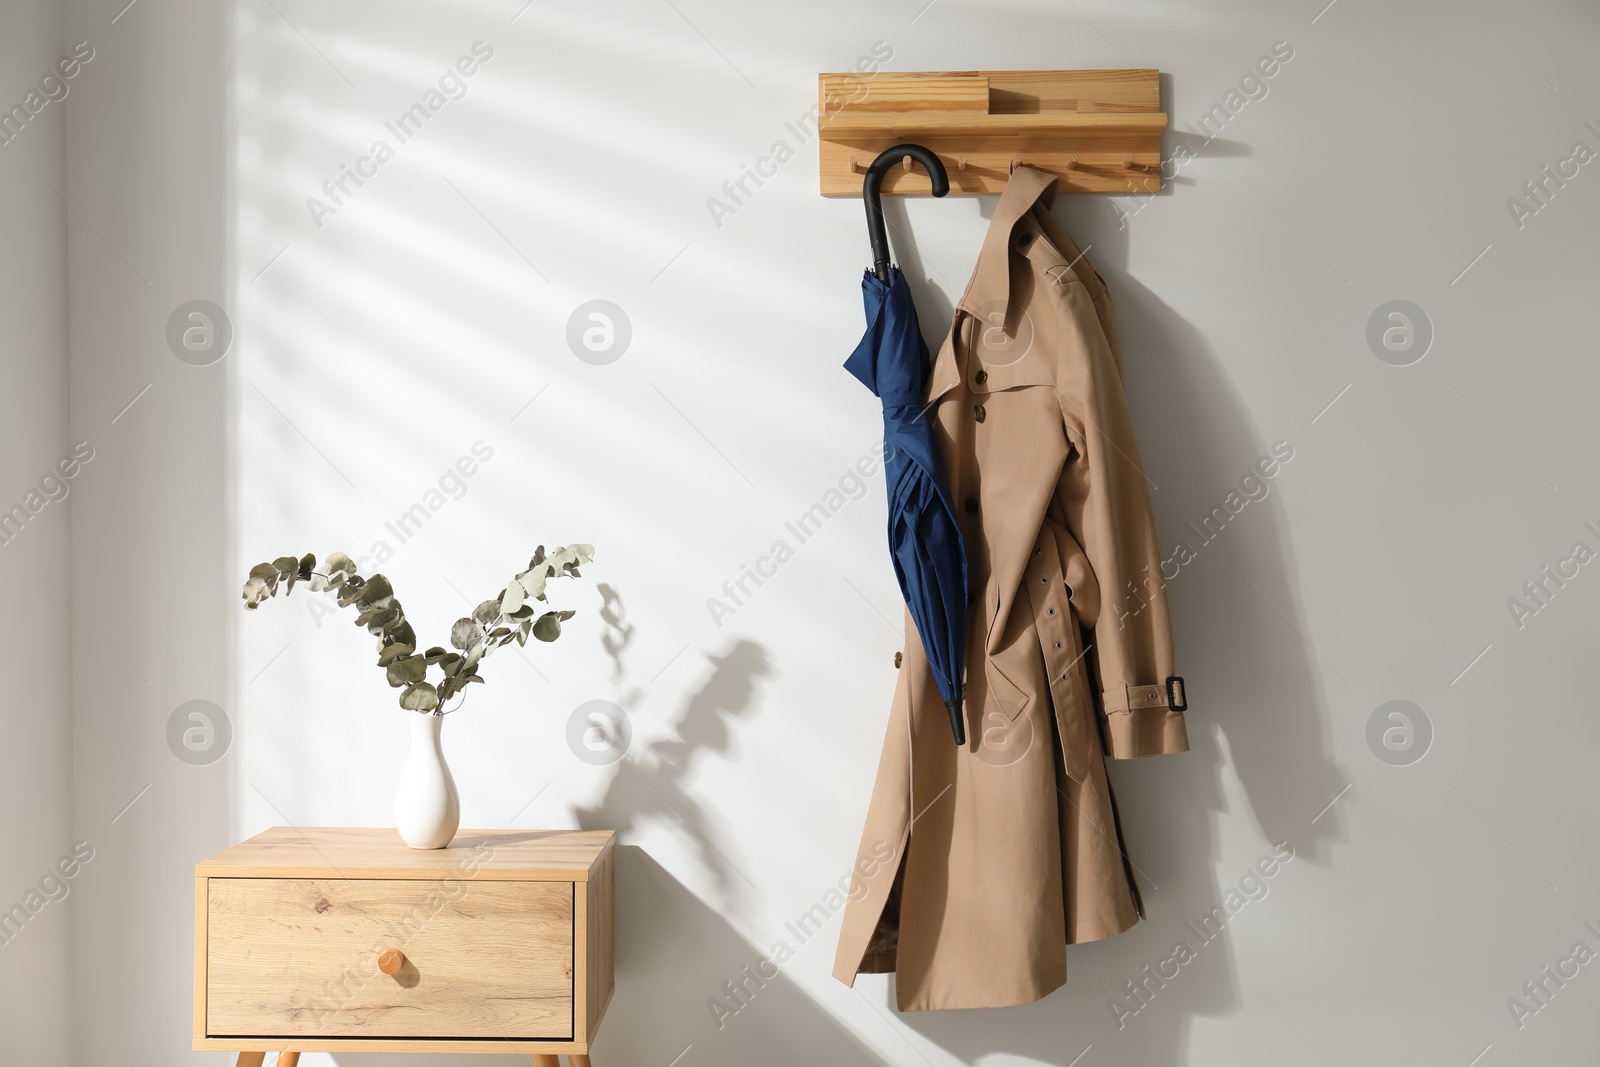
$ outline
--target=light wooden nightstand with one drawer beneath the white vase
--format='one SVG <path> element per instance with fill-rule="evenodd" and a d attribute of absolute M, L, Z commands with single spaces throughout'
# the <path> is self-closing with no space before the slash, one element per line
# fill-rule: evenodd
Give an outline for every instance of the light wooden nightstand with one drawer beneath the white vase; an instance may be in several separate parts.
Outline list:
<path fill-rule="evenodd" d="M 589 1064 L 614 987 L 610 830 L 274 827 L 195 867 L 197 1049 Z"/>

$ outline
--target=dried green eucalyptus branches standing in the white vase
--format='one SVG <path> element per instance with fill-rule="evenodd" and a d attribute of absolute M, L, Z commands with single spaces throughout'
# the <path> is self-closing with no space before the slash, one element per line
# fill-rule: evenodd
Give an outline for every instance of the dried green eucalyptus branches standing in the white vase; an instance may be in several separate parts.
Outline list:
<path fill-rule="evenodd" d="M 280 587 L 285 597 L 290 595 L 294 582 L 307 582 L 312 592 L 333 590 L 341 608 L 357 608 L 355 624 L 378 638 L 378 665 L 387 673 L 389 685 L 402 689 L 400 707 L 443 715 L 445 701 L 474 681 L 483 681 L 478 662 L 496 648 L 510 641 L 526 645 L 530 635 L 541 641 L 562 635 L 562 622 L 573 613 L 538 611 L 534 601 L 547 603 L 544 590 L 549 579 L 582 577 L 578 568 L 594 555 L 592 544 L 565 545 L 549 555 L 541 544 L 528 569 L 517 574 L 494 600 L 485 600 L 469 617 L 456 619 L 450 627 L 450 645 L 456 651 L 435 645 L 418 653 L 416 630 L 406 621 L 389 579 L 382 574 L 362 577 L 355 561 L 342 552 L 330 555 L 322 571 L 314 555 L 283 555 L 272 563 L 258 563 L 250 568 L 243 597 L 245 608 L 254 611 Z M 437 685 L 427 680 L 429 667 L 437 667 L 442 675 Z"/>

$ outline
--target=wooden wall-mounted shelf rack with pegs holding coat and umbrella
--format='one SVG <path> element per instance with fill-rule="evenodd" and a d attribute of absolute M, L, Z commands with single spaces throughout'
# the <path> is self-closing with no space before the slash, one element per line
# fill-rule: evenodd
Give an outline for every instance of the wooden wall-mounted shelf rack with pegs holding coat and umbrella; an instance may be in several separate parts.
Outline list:
<path fill-rule="evenodd" d="M 883 149 L 938 154 L 952 194 L 1002 192 L 1016 163 L 1061 178 L 1061 192 L 1162 187 L 1157 70 L 968 70 L 818 75 L 824 197 L 859 197 Z M 926 197 L 922 168 L 891 168 L 890 195 Z"/>

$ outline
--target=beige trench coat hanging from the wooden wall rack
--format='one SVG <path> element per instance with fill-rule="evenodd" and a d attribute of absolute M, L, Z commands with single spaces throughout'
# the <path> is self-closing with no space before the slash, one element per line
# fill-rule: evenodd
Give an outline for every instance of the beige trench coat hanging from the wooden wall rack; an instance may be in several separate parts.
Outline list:
<path fill-rule="evenodd" d="M 901 1011 L 1037 1000 L 1067 944 L 1139 921 L 1104 757 L 1189 747 L 1110 299 L 1054 181 L 1016 170 L 930 376 L 968 555 L 968 744 L 907 616 L 834 963 L 848 985 L 894 971 Z"/>

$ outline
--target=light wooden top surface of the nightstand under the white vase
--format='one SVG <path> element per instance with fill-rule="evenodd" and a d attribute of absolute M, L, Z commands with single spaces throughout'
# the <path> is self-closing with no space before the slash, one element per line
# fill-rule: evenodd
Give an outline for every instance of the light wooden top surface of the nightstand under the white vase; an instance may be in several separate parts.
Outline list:
<path fill-rule="evenodd" d="M 587 881 L 613 830 L 458 830 L 406 848 L 390 827 L 275 825 L 195 865 L 200 878 L 488 878 Z"/>

